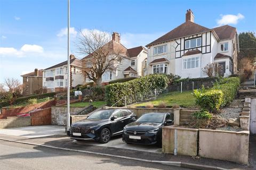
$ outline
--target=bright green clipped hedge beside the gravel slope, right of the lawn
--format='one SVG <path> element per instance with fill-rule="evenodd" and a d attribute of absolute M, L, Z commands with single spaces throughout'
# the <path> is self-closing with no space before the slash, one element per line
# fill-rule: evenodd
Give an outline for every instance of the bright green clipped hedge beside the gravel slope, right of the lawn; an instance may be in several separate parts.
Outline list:
<path fill-rule="evenodd" d="M 239 88 L 239 78 L 223 78 L 209 90 L 194 90 L 196 104 L 210 112 L 219 111 L 234 100 Z"/>

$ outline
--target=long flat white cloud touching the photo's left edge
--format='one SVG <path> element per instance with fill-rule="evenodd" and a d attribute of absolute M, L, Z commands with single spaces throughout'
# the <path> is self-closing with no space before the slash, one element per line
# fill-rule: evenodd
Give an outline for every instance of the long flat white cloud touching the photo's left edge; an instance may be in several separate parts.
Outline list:
<path fill-rule="evenodd" d="M 30 54 L 43 53 L 43 47 L 38 45 L 23 45 L 19 50 L 13 47 L 0 47 L 0 54 L 3 56 L 25 57 Z"/>

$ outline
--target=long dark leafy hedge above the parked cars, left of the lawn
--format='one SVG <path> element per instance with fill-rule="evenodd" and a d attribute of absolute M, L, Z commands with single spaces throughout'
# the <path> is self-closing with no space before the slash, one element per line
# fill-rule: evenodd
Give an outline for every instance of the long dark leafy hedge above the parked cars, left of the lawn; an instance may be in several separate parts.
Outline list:
<path fill-rule="evenodd" d="M 109 84 L 106 87 L 106 99 L 108 106 L 114 105 L 125 96 L 144 94 L 153 89 L 165 89 L 169 80 L 163 74 L 150 74 L 129 82 Z M 123 106 L 124 101 L 119 101 L 116 106 Z"/>

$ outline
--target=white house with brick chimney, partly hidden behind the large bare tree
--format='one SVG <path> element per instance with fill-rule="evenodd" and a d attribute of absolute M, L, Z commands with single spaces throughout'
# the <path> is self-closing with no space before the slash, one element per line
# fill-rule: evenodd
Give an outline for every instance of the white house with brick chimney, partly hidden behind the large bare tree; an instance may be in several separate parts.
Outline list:
<path fill-rule="evenodd" d="M 129 77 L 141 77 L 145 75 L 145 69 L 147 68 L 147 49 L 139 46 L 134 48 L 126 48 L 120 43 L 121 36 L 117 32 L 113 32 L 112 39 L 108 42 L 113 48 L 122 50 L 122 60 L 118 64 L 115 71 L 106 71 L 102 75 L 102 83 L 107 84 L 109 81 L 129 78 Z M 115 50 L 115 49 L 114 49 Z M 85 56 L 82 60 L 90 60 L 91 54 Z M 92 80 L 86 78 L 86 82 L 92 82 Z"/>

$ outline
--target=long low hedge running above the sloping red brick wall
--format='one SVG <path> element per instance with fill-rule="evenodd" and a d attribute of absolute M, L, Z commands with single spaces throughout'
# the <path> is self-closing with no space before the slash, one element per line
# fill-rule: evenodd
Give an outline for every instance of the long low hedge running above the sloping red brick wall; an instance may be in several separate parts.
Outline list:
<path fill-rule="evenodd" d="M 56 95 L 55 92 L 50 92 L 47 94 L 30 95 L 30 96 L 20 97 L 14 101 L 13 105 L 26 103 L 29 99 L 44 99 L 46 97 L 53 97 L 54 95 Z M 0 102 L 0 108 L 5 107 L 5 106 L 10 106 L 8 101 Z"/>

